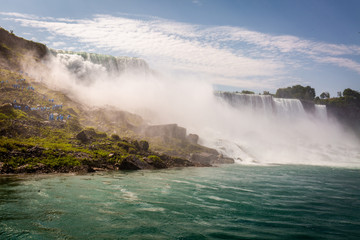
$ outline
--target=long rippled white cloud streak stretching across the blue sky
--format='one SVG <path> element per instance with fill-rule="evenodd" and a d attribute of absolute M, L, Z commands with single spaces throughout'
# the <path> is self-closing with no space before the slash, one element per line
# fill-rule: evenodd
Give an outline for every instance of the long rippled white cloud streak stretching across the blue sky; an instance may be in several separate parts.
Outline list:
<path fill-rule="evenodd" d="M 139 20 L 128 16 L 94 15 L 90 19 L 56 19 L 21 13 L 0 14 L 22 26 L 76 39 L 99 51 L 141 57 L 151 65 L 197 73 L 217 84 L 256 88 L 263 84 L 275 88 L 290 76 L 291 69 L 308 63 L 331 64 L 360 74 L 360 63 L 354 60 L 360 55 L 357 45 L 315 42 L 239 27 L 209 27 L 154 17 Z M 54 45 L 59 46 L 65 46 L 63 40 Z"/>

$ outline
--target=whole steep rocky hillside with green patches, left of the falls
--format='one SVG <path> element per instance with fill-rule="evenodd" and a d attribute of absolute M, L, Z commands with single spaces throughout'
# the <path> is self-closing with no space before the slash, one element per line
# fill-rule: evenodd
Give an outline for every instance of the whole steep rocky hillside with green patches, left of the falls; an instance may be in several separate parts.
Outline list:
<path fill-rule="evenodd" d="M 45 45 L 0 29 L 0 173 L 159 169 L 215 163 L 204 161 L 203 155 L 212 153 L 208 157 L 214 159 L 218 153 L 198 145 L 198 136 L 186 136 L 185 128 L 176 124 L 148 126 L 140 116 L 126 111 L 81 104 L 22 69 L 24 64 L 45 64 L 42 60 L 48 53 Z M 95 61 L 100 55 L 88 56 Z M 121 59 L 115 60 L 121 63 Z M 148 69 L 143 62 L 133 59 L 126 64 L 137 63 L 135 68 Z M 192 157 L 194 154 L 202 154 L 201 161 Z"/>

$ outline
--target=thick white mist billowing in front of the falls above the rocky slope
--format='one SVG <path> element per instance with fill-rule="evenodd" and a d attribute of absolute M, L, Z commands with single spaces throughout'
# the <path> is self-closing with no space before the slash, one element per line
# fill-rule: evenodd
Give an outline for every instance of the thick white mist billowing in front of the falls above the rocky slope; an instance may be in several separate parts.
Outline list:
<path fill-rule="evenodd" d="M 117 72 L 71 54 L 39 68 L 27 72 L 82 103 L 136 113 L 149 124 L 177 123 L 236 163 L 360 167 L 359 139 L 335 120 L 233 106 L 206 79 L 165 69 Z"/>

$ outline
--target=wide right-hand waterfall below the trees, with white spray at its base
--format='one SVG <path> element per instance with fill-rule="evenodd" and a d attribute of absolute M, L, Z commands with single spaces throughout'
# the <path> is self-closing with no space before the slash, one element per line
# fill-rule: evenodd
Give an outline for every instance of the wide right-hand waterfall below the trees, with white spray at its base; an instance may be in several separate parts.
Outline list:
<path fill-rule="evenodd" d="M 327 121 L 325 105 L 298 99 L 216 92 L 216 132 L 201 143 L 241 164 L 360 166 L 359 141 Z M 201 134 L 199 134 L 202 136 Z"/>

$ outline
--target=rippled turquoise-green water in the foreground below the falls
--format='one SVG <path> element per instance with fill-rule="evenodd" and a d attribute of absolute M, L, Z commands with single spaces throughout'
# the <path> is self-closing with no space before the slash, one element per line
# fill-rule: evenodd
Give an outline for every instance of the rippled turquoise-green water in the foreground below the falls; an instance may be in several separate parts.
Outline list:
<path fill-rule="evenodd" d="M 3 176 L 0 239 L 360 239 L 360 170 Z"/>

